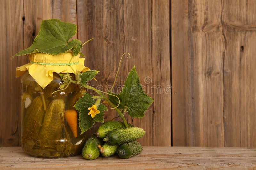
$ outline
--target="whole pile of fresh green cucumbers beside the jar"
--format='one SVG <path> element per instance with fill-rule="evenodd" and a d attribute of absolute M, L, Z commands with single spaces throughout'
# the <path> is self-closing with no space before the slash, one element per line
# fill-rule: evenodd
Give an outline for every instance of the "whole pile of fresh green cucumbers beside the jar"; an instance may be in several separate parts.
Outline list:
<path fill-rule="evenodd" d="M 145 135 L 145 131 L 138 127 L 125 128 L 122 122 L 108 121 L 102 124 L 96 135 L 86 141 L 82 155 L 85 159 L 93 160 L 100 156 L 114 155 L 120 158 L 130 158 L 142 152 L 143 148 L 138 141 Z M 103 139 L 103 140 L 102 140 Z M 105 143 L 104 143 L 105 142 Z"/>

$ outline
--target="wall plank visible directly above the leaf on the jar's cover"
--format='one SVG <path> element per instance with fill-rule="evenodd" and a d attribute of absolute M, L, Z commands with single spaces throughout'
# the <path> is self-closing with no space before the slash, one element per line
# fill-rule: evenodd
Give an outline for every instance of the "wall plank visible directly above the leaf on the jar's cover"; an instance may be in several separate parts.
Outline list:
<path fill-rule="evenodd" d="M 28 48 L 38 34 L 43 20 L 55 18 L 76 24 L 76 1 L 25 0 L 24 18 L 24 48 Z M 73 38 L 77 39 L 77 34 Z"/>

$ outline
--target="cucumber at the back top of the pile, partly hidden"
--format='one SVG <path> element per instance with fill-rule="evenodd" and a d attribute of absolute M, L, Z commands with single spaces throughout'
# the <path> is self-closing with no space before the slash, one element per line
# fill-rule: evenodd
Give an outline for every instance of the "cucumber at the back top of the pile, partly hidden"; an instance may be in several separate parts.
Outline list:
<path fill-rule="evenodd" d="M 129 124 L 129 127 L 132 127 L 132 125 Z M 116 129 L 124 129 L 124 128 L 125 128 L 125 126 L 122 122 L 108 121 L 108 122 L 100 125 L 96 134 L 100 138 L 105 138 L 108 132 L 116 130 Z"/>

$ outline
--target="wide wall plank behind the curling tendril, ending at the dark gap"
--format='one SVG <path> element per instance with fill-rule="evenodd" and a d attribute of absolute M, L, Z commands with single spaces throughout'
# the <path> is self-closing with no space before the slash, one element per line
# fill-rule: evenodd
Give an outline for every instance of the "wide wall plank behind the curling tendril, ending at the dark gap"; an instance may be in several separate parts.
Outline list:
<path fill-rule="evenodd" d="M 162 10 L 159 11 L 159 8 Z M 171 96 L 164 92 L 161 95 L 159 89 L 150 89 L 153 85 L 162 88 L 170 86 L 169 2 L 78 0 L 77 17 L 78 39 L 85 42 L 95 38 L 82 50 L 86 56 L 85 65 L 100 70 L 98 81 L 91 85 L 108 91 L 121 55 L 130 53 L 131 58 L 124 58 L 121 63 L 114 92 L 121 90 L 135 64 L 145 92 L 155 102 L 143 119 L 127 117 L 128 121 L 145 129 L 146 135 L 140 139 L 142 145 L 170 146 Z M 159 92 L 156 93 L 156 90 Z M 117 116 L 111 109 L 105 115 L 105 121 Z M 98 126 L 95 124 L 90 133 L 94 133 Z M 163 136 L 164 140 L 159 140 Z"/>

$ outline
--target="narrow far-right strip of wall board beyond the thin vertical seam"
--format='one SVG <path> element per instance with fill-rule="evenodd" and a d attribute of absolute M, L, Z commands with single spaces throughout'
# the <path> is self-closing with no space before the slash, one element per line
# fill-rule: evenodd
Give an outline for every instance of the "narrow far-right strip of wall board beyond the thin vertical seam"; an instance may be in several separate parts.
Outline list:
<path fill-rule="evenodd" d="M 223 1 L 225 146 L 256 147 L 255 1 Z"/>

